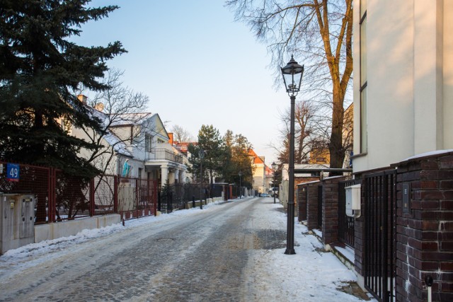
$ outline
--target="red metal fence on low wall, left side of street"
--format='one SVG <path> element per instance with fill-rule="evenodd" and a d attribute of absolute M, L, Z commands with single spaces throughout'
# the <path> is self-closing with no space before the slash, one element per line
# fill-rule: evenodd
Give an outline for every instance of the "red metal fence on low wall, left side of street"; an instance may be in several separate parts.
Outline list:
<path fill-rule="evenodd" d="M 0 192 L 35 194 L 38 224 L 112 213 L 121 219 L 156 215 L 155 180 L 98 175 L 86 181 L 55 168 L 23 164 L 17 165 L 17 178 L 11 178 L 11 163 L 0 165 Z"/>

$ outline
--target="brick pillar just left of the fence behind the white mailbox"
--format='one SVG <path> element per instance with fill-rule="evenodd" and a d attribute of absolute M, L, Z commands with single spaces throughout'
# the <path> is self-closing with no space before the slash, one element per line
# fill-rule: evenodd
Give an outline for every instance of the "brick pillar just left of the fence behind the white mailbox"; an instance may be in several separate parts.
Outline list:
<path fill-rule="evenodd" d="M 338 241 L 338 182 L 345 177 L 323 180 L 323 243 Z"/>

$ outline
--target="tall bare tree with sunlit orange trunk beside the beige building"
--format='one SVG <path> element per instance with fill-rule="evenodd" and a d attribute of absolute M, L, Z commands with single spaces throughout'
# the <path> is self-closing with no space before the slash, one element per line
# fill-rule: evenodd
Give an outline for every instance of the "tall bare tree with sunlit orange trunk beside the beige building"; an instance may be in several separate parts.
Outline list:
<path fill-rule="evenodd" d="M 305 95 L 329 108 L 331 168 L 341 168 L 343 107 L 352 76 L 352 0 L 228 0 L 226 5 L 268 44 L 276 81 L 287 53 L 304 58 Z"/>

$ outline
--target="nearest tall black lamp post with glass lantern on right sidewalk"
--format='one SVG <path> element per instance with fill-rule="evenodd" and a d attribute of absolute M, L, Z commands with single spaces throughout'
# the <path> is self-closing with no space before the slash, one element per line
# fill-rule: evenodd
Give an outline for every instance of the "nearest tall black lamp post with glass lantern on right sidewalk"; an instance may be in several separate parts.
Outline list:
<path fill-rule="evenodd" d="M 291 122 L 289 127 L 289 190 L 286 255 L 293 255 L 294 250 L 294 103 L 300 90 L 304 66 L 297 64 L 291 56 L 288 64 L 282 68 L 283 82 L 291 99 Z"/>

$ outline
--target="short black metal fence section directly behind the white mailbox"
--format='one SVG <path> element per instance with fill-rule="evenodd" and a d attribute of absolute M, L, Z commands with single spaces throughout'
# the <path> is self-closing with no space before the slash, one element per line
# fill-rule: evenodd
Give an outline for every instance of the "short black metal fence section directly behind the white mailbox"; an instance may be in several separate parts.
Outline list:
<path fill-rule="evenodd" d="M 354 248 L 355 218 L 346 215 L 345 187 L 354 184 L 354 180 L 338 182 L 338 240 L 351 248 Z"/>

